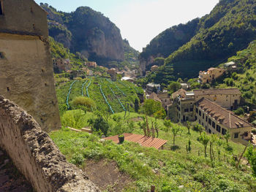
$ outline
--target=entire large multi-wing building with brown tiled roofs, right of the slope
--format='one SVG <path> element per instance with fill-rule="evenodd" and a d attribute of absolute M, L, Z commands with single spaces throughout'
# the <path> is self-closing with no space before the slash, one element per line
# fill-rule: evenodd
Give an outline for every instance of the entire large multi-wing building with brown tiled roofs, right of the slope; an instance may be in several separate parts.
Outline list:
<path fill-rule="evenodd" d="M 237 88 L 202 89 L 192 92 L 180 89 L 173 93 L 173 104 L 168 117 L 175 123 L 197 121 L 209 134 L 225 135 L 244 145 L 251 139 L 252 125 L 229 110 L 236 109 L 241 101 Z"/>

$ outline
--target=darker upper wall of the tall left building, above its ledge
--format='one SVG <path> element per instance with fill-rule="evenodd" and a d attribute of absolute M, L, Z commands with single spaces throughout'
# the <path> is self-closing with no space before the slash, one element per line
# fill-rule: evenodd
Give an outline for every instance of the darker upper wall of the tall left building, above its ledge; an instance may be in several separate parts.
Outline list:
<path fill-rule="evenodd" d="M 0 32 L 48 37 L 46 12 L 33 0 L 1 0 Z"/>

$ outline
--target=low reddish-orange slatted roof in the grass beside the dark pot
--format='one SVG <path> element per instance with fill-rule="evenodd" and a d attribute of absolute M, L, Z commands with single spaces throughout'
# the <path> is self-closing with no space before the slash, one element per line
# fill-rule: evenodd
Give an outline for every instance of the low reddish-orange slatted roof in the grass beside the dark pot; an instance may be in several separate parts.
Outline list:
<path fill-rule="evenodd" d="M 107 137 L 106 140 L 112 140 L 113 142 L 118 143 L 118 135 Z M 154 147 L 157 150 L 167 143 L 167 140 L 154 138 L 154 137 L 146 137 L 140 134 L 124 134 L 124 140 L 129 142 L 136 142 L 143 147 Z"/>

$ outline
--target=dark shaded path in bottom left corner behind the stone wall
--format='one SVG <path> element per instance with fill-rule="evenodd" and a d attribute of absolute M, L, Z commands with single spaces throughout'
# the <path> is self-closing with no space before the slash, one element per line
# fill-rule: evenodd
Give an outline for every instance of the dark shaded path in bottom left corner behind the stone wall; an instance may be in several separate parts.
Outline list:
<path fill-rule="evenodd" d="M 15 168 L 7 153 L 0 148 L 0 191 L 32 192 L 33 188 Z"/>

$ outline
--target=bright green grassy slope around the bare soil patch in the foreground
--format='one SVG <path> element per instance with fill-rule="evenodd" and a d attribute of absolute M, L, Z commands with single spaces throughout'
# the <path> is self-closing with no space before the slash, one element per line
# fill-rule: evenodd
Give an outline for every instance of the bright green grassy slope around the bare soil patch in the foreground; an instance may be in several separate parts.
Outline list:
<path fill-rule="evenodd" d="M 117 115 L 124 116 L 124 112 Z M 138 117 L 131 113 L 128 118 Z M 149 122 L 151 118 L 149 119 Z M 162 120 L 158 121 L 162 128 Z M 177 126 L 177 125 L 174 125 Z M 142 134 L 142 130 L 135 123 L 136 134 Z M 85 133 L 75 133 L 61 129 L 50 134 L 60 150 L 67 159 L 80 166 L 86 166 L 83 161 L 86 159 L 101 158 L 114 160 L 119 170 L 129 174 L 135 185 L 127 188 L 126 191 L 146 191 L 150 185 L 156 185 L 157 191 L 255 191 L 255 178 L 246 166 L 236 169 L 232 166 L 233 161 L 230 153 L 221 147 L 221 160 L 211 164 L 209 158 L 203 157 L 203 145 L 197 142 L 199 133 L 191 131 L 192 153 L 187 154 L 186 145 L 189 140 L 187 128 L 182 127 L 181 136 L 176 138 L 176 144 L 180 150 L 171 151 L 172 134 L 170 131 L 160 130 L 159 138 L 167 139 L 165 150 L 140 147 L 132 142 L 124 142 L 124 145 L 116 145 L 113 142 L 99 142 L 99 138 Z M 233 154 L 241 154 L 244 146 L 230 142 L 233 147 Z M 198 156 L 200 150 L 200 156 Z M 209 148 L 207 149 L 207 152 Z M 214 147 L 217 158 L 217 148 Z M 226 162 L 225 158 L 226 156 Z M 80 162 L 79 162 L 80 161 Z M 227 162 L 228 161 L 228 162 Z M 78 165 L 79 166 L 79 165 Z M 157 172 L 157 173 L 154 173 Z M 184 188 L 178 188 L 184 185 Z"/>

